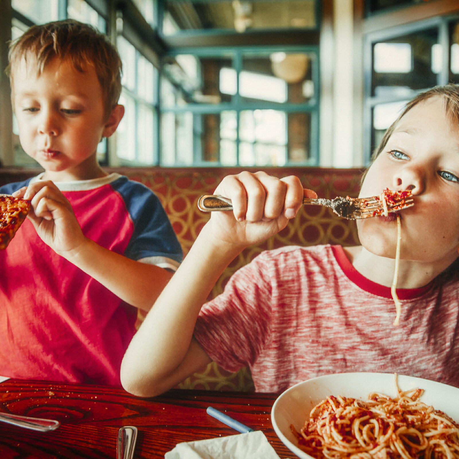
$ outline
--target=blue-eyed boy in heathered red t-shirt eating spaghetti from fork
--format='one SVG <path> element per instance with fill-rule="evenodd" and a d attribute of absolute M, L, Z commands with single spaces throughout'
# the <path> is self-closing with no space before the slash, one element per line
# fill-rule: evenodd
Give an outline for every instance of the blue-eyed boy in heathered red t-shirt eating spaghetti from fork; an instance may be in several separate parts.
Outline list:
<path fill-rule="evenodd" d="M 123 386 L 151 396 L 214 360 L 230 371 L 249 365 L 259 392 L 352 371 L 459 387 L 458 86 L 419 95 L 388 130 L 360 196 L 386 187 L 414 196 L 399 213 L 400 325 L 392 325 L 394 213 L 357 220 L 362 246 L 263 252 L 203 306 L 231 259 L 283 229 L 302 205 L 296 177 L 245 172 L 215 191 L 234 212 L 212 214 L 158 297 L 123 358 Z"/>

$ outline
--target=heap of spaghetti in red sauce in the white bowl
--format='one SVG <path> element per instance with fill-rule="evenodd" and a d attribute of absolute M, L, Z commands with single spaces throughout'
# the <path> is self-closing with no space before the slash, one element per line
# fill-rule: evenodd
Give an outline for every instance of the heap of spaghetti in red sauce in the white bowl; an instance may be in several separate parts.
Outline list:
<path fill-rule="evenodd" d="M 313 408 L 298 448 L 317 459 L 459 459 L 459 425 L 412 389 L 368 400 L 331 395 Z"/>

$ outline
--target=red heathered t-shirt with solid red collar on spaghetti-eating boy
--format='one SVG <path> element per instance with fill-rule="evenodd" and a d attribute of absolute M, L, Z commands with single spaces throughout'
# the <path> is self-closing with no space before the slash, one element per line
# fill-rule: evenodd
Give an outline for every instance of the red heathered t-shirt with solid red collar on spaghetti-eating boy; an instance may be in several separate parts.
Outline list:
<path fill-rule="evenodd" d="M 420 289 L 389 287 L 356 271 L 341 246 L 263 252 L 205 304 L 195 337 L 219 365 L 249 365 L 257 392 L 315 376 L 375 371 L 459 387 L 459 275 Z"/>

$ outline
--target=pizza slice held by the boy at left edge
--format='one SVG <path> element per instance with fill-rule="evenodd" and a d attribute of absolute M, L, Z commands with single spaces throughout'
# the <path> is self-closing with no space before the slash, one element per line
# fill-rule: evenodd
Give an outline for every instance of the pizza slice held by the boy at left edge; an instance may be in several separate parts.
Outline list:
<path fill-rule="evenodd" d="M 13 239 L 30 209 L 30 201 L 0 194 L 0 250 Z"/>

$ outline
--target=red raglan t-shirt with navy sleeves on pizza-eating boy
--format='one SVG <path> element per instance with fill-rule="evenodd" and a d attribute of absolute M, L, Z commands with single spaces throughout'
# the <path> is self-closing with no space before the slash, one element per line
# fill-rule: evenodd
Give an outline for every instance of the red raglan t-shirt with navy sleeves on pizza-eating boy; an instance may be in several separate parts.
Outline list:
<path fill-rule="evenodd" d="M 39 179 L 5 185 L 0 193 Z M 180 244 L 145 185 L 110 174 L 56 186 L 88 238 L 133 260 L 178 267 Z M 136 308 L 57 255 L 28 219 L 0 251 L 0 270 L 0 375 L 120 384 Z"/>

